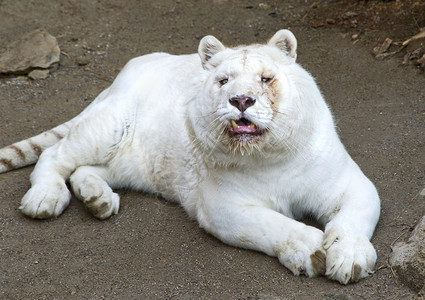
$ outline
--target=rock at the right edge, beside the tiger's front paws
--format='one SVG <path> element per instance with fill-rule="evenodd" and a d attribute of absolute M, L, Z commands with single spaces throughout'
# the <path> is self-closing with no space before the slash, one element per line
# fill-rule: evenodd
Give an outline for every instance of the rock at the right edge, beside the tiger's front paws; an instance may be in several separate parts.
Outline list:
<path fill-rule="evenodd" d="M 425 292 L 425 216 L 407 242 L 392 247 L 390 264 L 399 279 L 416 292 Z"/>

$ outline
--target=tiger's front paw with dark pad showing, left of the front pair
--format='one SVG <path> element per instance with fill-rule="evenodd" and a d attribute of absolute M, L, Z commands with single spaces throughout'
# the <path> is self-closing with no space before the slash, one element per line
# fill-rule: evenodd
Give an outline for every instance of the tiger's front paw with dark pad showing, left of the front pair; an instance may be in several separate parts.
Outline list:
<path fill-rule="evenodd" d="M 323 232 L 311 226 L 297 234 L 294 240 L 284 242 L 278 252 L 281 264 L 294 275 L 314 277 L 325 273 L 326 254 L 322 248 Z"/>

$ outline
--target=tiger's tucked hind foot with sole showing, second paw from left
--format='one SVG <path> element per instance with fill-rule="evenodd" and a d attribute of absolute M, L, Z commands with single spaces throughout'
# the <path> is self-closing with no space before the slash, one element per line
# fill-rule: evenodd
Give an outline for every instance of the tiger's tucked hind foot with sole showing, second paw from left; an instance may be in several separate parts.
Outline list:
<path fill-rule="evenodd" d="M 118 213 L 120 197 L 108 185 L 109 170 L 102 166 L 82 166 L 70 177 L 75 196 L 98 219 Z"/>

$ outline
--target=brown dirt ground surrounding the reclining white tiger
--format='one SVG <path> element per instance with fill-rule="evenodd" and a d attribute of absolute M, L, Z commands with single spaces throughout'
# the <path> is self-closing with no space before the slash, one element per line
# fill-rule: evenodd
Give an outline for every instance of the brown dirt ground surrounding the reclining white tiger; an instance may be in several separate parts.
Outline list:
<path fill-rule="evenodd" d="M 425 214 L 425 76 L 402 64 L 409 49 L 386 60 L 372 49 L 421 27 L 423 1 L 0 0 L 0 46 L 44 28 L 62 51 L 45 80 L 0 79 L 0 146 L 78 114 L 134 56 L 196 52 L 206 34 L 227 45 L 264 42 L 290 28 L 298 61 L 382 199 L 376 272 L 342 286 L 224 245 L 180 207 L 143 193 L 118 191 L 120 213 L 105 221 L 76 199 L 56 220 L 26 218 L 17 208 L 30 186 L 27 167 L 0 175 L 0 298 L 415 299 L 387 259 Z"/>

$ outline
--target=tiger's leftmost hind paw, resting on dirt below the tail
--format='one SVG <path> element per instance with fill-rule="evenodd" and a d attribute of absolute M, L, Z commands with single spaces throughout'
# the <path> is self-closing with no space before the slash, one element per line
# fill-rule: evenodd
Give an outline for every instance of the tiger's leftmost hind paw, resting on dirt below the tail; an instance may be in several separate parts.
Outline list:
<path fill-rule="evenodd" d="M 70 199 L 65 182 L 35 184 L 22 198 L 19 209 L 31 218 L 49 219 L 59 216 Z"/>

